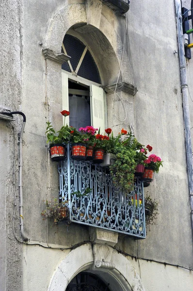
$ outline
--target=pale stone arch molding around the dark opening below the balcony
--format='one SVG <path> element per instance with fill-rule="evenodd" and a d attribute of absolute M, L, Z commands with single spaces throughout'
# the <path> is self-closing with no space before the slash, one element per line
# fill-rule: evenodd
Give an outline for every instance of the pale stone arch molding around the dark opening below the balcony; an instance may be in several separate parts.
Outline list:
<path fill-rule="evenodd" d="M 98 245 L 100 247 L 100 245 Z M 114 281 L 123 291 L 145 291 L 140 276 L 128 259 L 113 249 L 112 264 L 115 268 L 96 268 L 94 265 L 93 248 L 91 244 L 84 244 L 72 250 L 58 265 L 50 280 L 48 291 L 65 291 L 74 276 L 88 270 L 95 274 L 104 275 L 109 281 Z M 97 269 L 97 270 L 96 270 Z M 118 290 L 116 288 L 116 290 Z"/>

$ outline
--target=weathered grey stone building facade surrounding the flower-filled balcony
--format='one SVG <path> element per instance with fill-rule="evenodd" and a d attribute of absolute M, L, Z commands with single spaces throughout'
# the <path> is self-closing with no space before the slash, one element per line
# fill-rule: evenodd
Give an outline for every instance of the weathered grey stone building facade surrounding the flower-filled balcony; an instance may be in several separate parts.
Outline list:
<path fill-rule="evenodd" d="M 191 1 L 183 5 L 190 9 Z M 72 290 L 81 280 L 95 290 L 193 290 L 180 1 L 3 0 L 0 11 L 0 113 L 8 113 L 0 114 L 0 291 Z M 186 66 L 191 130 L 192 59 Z M 68 81 L 91 91 L 90 98 L 102 94 L 101 127 L 132 129 L 164 161 L 144 189 L 159 208 L 145 239 L 42 220 L 45 200 L 59 193 L 46 121 L 61 128 L 60 112 L 70 106 L 66 90 L 75 89 Z M 9 112 L 26 116 L 22 141 L 23 117 Z"/>

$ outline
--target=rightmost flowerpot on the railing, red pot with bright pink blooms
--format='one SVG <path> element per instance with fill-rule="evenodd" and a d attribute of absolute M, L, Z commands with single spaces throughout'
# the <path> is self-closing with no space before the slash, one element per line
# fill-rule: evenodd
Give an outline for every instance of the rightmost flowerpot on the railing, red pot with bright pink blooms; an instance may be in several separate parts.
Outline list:
<path fill-rule="evenodd" d="M 160 166 L 162 165 L 161 158 L 152 154 L 145 161 L 144 174 L 142 176 L 145 182 L 152 182 L 154 177 L 154 172 L 158 173 Z"/>

